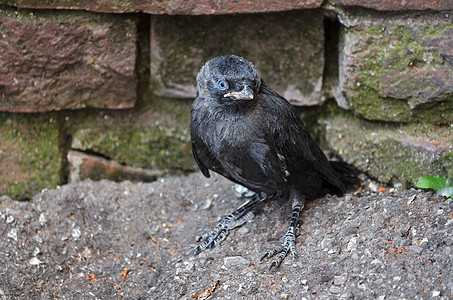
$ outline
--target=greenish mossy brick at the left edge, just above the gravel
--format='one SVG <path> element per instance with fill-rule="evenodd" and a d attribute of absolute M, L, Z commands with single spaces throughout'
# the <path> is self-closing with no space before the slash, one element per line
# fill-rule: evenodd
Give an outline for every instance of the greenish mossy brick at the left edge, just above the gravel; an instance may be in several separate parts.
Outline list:
<path fill-rule="evenodd" d="M 0 113 L 0 195 L 22 200 L 60 183 L 57 122 Z"/>

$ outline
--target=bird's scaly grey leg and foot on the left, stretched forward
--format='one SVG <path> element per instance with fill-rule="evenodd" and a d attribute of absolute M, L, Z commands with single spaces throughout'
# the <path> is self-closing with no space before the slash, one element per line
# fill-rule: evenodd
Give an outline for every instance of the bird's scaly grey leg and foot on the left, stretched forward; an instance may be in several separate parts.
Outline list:
<path fill-rule="evenodd" d="M 267 199 L 268 196 L 264 193 L 256 194 L 255 197 L 248 200 L 244 204 L 238 207 L 235 211 L 225 217 L 216 227 L 214 227 L 211 231 L 203 234 L 199 239 L 199 241 L 204 240 L 203 243 L 198 245 L 193 251 L 194 255 L 197 255 L 200 252 L 203 252 L 207 248 L 212 248 L 218 244 L 220 244 L 228 235 L 228 231 L 230 229 L 236 228 L 241 226 L 248 220 L 252 219 L 254 214 L 251 209 L 258 204 L 259 202 L 264 201 Z"/>

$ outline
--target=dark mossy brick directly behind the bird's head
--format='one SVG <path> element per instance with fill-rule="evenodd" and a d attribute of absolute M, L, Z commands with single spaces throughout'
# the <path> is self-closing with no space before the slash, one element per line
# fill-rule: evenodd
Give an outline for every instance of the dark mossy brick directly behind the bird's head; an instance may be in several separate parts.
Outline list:
<path fill-rule="evenodd" d="M 193 98 L 201 66 L 218 55 L 250 60 L 295 105 L 322 102 L 324 27 L 319 11 L 240 16 L 154 16 L 151 81 L 160 96 Z"/>

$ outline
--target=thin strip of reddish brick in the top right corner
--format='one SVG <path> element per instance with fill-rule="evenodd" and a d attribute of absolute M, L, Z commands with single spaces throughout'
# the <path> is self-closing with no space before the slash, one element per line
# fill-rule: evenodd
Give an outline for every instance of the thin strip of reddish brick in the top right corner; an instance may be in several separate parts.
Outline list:
<path fill-rule="evenodd" d="M 450 10 L 453 9 L 451 0 L 334 0 L 342 6 L 359 6 L 381 11 L 409 11 L 409 10 Z"/>

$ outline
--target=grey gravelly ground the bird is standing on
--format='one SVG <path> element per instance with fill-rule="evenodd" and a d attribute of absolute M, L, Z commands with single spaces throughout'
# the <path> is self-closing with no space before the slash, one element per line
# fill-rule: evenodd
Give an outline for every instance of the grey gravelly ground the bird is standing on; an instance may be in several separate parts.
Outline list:
<path fill-rule="evenodd" d="M 310 201 L 299 257 L 271 272 L 259 259 L 280 243 L 288 209 L 268 201 L 192 256 L 196 237 L 241 202 L 231 183 L 200 173 L 0 197 L 0 299 L 453 298 L 452 199 L 406 190 Z"/>

